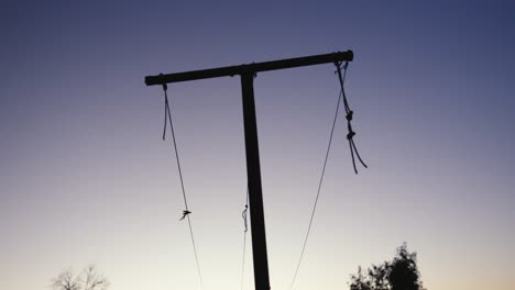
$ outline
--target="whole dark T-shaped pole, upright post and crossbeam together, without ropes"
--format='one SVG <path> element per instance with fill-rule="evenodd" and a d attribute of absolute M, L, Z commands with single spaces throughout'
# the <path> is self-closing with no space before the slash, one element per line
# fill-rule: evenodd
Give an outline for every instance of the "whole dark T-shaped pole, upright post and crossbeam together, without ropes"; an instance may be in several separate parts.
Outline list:
<path fill-rule="evenodd" d="M 352 51 L 288 58 L 249 65 L 229 66 L 193 70 L 168 75 L 145 77 L 146 86 L 166 85 L 179 81 L 218 78 L 239 75 L 243 98 L 243 124 L 245 134 L 246 176 L 249 182 L 249 207 L 251 212 L 252 256 L 254 263 L 255 290 L 269 290 L 269 258 L 261 187 L 260 150 L 258 145 L 258 124 L 255 119 L 254 76 L 261 71 L 314 66 L 327 63 L 352 62 Z"/>

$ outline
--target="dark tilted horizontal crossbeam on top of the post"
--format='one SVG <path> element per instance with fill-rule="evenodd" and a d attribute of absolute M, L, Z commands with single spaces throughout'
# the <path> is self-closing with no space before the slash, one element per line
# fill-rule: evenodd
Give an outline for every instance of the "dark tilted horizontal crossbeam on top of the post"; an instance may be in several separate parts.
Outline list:
<path fill-rule="evenodd" d="M 314 66 L 336 62 L 352 62 L 354 54 L 352 51 L 338 52 L 322 55 L 311 55 L 264 63 L 253 63 L 248 65 L 218 67 L 210 69 L 191 70 L 176 74 L 157 75 L 145 77 L 146 86 L 165 85 L 179 81 L 197 79 L 233 77 L 235 75 L 248 75 L 260 71 L 276 70 L 293 67 Z"/>

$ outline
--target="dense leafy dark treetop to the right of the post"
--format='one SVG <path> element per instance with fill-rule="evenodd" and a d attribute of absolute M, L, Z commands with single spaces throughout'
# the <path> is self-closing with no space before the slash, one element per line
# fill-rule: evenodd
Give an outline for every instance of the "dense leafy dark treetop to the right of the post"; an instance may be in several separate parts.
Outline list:
<path fill-rule="evenodd" d="M 397 248 L 392 261 L 379 266 L 372 265 L 366 274 L 358 267 L 358 274 L 351 275 L 351 290 L 423 290 L 420 274 L 417 268 L 417 254 L 409 253 L 404 243 Z"/>

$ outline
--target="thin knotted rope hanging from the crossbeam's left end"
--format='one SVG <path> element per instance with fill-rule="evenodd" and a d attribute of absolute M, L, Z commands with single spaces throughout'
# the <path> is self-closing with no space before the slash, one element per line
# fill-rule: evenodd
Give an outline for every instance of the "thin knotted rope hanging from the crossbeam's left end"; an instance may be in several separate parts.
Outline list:
<path fill-rule="evenodd" d="M 191 212 L 188 209 L 188 202 L 186 200 L 186 191 L 184 189 L 183 171 L 180 170 L 180 161 L 179 161 L 179 157 L 178 157 L 178 153 L 177 153 L 177 143 L 175 142 L 174 123 L 172 122 L 172 111 L 169 110 L 168 94 L 167 94 L 168 87 L 166 86 L 166 83 L 163 83 L 163 90 L 164 90 L 164 93 L 165 93 L 165 122 L 164 122 L 164 130 L 163 130 L 163 141 L 165 140 L 166 122 L 168 120 L 169 121 L 169 129 L 171 129 L 171 132 L 172 132 L 172 140 L 174 142 L 175 157 L 177 159 L 177 168 L 178 168 L 178 172 L 179 172 L 180 188 L 183 189 L 183 198 L 184 198 L 185 210 L 183 211 L 183 217 L 180 217 L 179 221 L 182 221 L 182 220 L 184 220 L 186 217 L 188 220 L 189 235 L 191 236 L 191 244 L 193 244 L 193 248 L 194 248 L 194 253 L 195 253 L 195 260 L 197 263 L 198 278 L 200 279 L 200 288 L 204 288 L 202 276 L 200 274 L 200 264 L 198 263 L 197 247 L 195 245 L 195 237 L 194 237 L 194 233 L 193 233 L 191 220 L 189 219 L 189 214 Z"/>

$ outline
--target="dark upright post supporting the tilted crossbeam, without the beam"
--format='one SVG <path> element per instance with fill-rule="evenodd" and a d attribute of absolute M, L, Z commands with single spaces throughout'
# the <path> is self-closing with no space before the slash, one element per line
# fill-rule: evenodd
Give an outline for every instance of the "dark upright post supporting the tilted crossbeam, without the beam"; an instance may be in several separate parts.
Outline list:
<path fill-rule="evenodd" d="M 255 290 L 269 290 L 269 257 L 261 187 L 260 150 L 254 103 L 254 74 L 241 75 L 243 97 L 243 123 L 245 134 L 246 178 L 249 182 L 249 207 L 252 228 L 252 257 L 254 261 Z"/>

